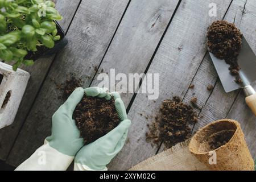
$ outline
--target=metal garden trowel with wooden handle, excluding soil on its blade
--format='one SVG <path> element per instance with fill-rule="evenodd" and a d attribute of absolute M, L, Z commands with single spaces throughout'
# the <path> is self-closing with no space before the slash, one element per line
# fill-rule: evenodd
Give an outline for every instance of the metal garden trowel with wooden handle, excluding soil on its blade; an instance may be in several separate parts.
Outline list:
<path fill-rule="evenodd" d="M 229 64 L 226 64 L 224 60 L 217 59 L 213 53 L 210 53 L 210 57 L 212 57 L 214 67 L 216 68 L 218 77 L 220 77 L 225 92 L 228 93 L 242 88 L 245 92 L 246 104 L 256 115 L 256 92 L 251 86 L 256 80 L 256 56 L 246 39 L 242 39 L 242 48 L 238 56 L 238 65 L 240 65 L 241 68 L 239 72 L 242 80 L 241 84 L 237 84 L 235 81 L 236 76 L 231 75 Z"/>

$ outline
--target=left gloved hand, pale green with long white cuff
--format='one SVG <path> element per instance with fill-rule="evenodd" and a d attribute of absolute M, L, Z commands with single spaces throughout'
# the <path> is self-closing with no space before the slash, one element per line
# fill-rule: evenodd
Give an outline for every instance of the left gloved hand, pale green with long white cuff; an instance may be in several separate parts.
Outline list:
<path fill-rule="evenodd" d="M 84 145 L 79 129 L 72 119 L 73 111 L 84 96 L 77 88 L 52 117 L 52 134 L 16 170 L 66 170 L 77 151 Z"/>

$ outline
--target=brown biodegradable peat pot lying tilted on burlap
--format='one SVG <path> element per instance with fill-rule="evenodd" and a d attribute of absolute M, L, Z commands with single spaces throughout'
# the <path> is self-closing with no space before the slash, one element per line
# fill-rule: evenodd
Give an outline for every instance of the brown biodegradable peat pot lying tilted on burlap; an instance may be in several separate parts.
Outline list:
<path fill-rule="evenodd" d="M 213 148 L 213 141 L 227 143 Z M 254 171 L 254 161 L 245 142 L 240 124 L 232 119 L 214 121 L 203 127 L 192 137 L 189 150 L 200 162 L 216 171 Z M 216 164 L 209 164 L 213 152 Z M 209 153 L 210 152 L 210 153 Z M 211 154 L 211 155 L 209 155 Z"/>

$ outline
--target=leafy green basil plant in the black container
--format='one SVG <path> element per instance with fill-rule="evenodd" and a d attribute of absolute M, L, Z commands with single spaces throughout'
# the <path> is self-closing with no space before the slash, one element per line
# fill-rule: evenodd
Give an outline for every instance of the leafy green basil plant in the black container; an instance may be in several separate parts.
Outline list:
<path fill-rule="evenodd" d="M 53 48 L 60 40 L 54 20 L 62 19 L 54 7 L 52 1 L 0 0 L 0 59 L 15 61 L 16 71 L 34 63 L 26 59 L 28 53 Z"/>

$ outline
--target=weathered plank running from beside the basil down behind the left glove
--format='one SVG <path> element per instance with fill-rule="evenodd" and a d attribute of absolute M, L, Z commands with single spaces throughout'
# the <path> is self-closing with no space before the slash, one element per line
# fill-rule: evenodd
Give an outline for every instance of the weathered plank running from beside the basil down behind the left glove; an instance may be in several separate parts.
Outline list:
<path fill-rule="evenodd" d="M 17 166 L 42 145 L 44 138 L 51 134 L 51 117 L 63 103 L 58 100 L 60 84 L 67 75 L 74 72 L 81 77 L 84 85 L 92 80 L 109 46 L 128 0 L 82 1 L 68 31 L 69 44 L 57 55 L 42 89 L 36 98 L 30 115 L 7 158 L 7 163 Z M 52 81 L 52 78 L 55 81 Z"/>

